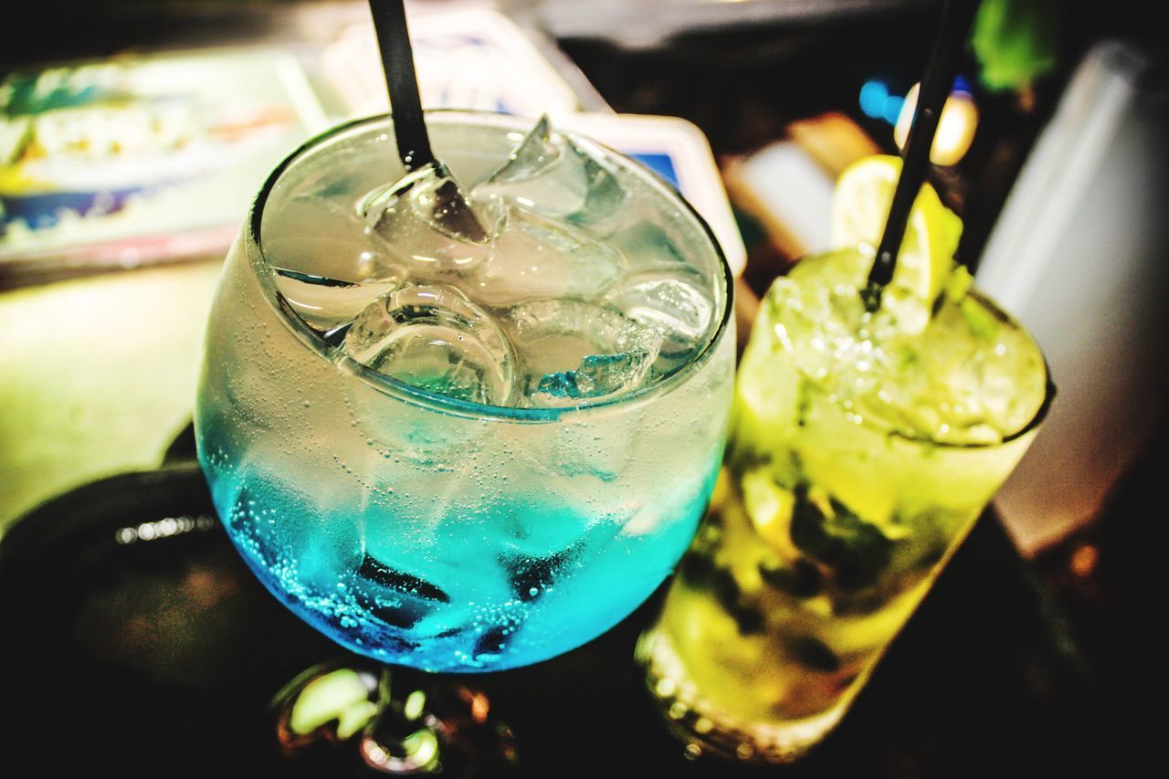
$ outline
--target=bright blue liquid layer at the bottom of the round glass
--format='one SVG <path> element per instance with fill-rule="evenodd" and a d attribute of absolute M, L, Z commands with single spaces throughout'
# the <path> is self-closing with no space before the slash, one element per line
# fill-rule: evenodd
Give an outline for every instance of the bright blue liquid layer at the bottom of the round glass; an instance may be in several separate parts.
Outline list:
<path fill-rule="evenodd" d="M 208 455 L 223 450 L 203 433 L 215 506 L 260 580 L 347 649 L 429 671 L 527 666 L 611 628 L 682 556 L 718 464 L 705 484 L 662 489 L 662 521 L 631 533 L 629 516 L 520 494 L 450 516 L 423 516 L 407 496 L 327 510 L 313 485 Z"/>

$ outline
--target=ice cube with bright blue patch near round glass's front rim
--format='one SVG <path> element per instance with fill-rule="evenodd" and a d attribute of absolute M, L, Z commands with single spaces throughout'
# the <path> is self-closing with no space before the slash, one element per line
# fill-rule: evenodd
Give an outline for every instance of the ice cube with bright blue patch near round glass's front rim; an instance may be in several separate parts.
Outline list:
<path fill-rule="evenodd" d="M 525 366 L 533 406 L 576 405 L 636 388 L 662 347 L 662 333 L 583 301 L 535 301 L 505 317 Z"/>

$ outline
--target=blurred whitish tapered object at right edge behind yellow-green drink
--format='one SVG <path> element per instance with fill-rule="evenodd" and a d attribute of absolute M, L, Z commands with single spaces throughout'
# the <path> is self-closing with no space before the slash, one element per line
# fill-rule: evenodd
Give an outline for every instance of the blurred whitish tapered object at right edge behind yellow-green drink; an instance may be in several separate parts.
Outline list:
<path fill-rule="evenodd" d="M 978 285 L 1036 337 L 1058 387 L 995 498 L 1033 553 L 1100 515 L 1162 429 L 1169 284 L 1169 87 L 1139 49 L 1094 47 L 1024 164 Z"/>

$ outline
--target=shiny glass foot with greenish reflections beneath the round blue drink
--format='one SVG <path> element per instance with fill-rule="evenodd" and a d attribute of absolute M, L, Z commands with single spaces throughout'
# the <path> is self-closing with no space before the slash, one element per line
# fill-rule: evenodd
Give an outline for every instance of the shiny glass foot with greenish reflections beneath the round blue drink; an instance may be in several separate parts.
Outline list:
<path fill-rule="evenodd" d="M 517 764 L 486 695 L 449 677 L 346 657 L 297 676 L 271 709 L 290 756 L 326 742 L 389 775 L 506 777 Z"/>

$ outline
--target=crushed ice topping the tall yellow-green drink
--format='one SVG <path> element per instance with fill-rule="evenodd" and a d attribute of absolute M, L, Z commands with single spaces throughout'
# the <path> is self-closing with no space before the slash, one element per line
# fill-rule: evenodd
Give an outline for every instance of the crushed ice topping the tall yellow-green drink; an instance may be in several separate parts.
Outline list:
<path fill-rule="evenodd" d="M 974 292 L 943 296 L 929 326 L 906 331 L 890 311 L 865 310 L 859 290 L 871 263 L 855 249 L 801 260 L 768 292 L 769 347 L 858 425 L 963 446 L 1025 428 L 1047 378 L 1031 336 Z"/>

